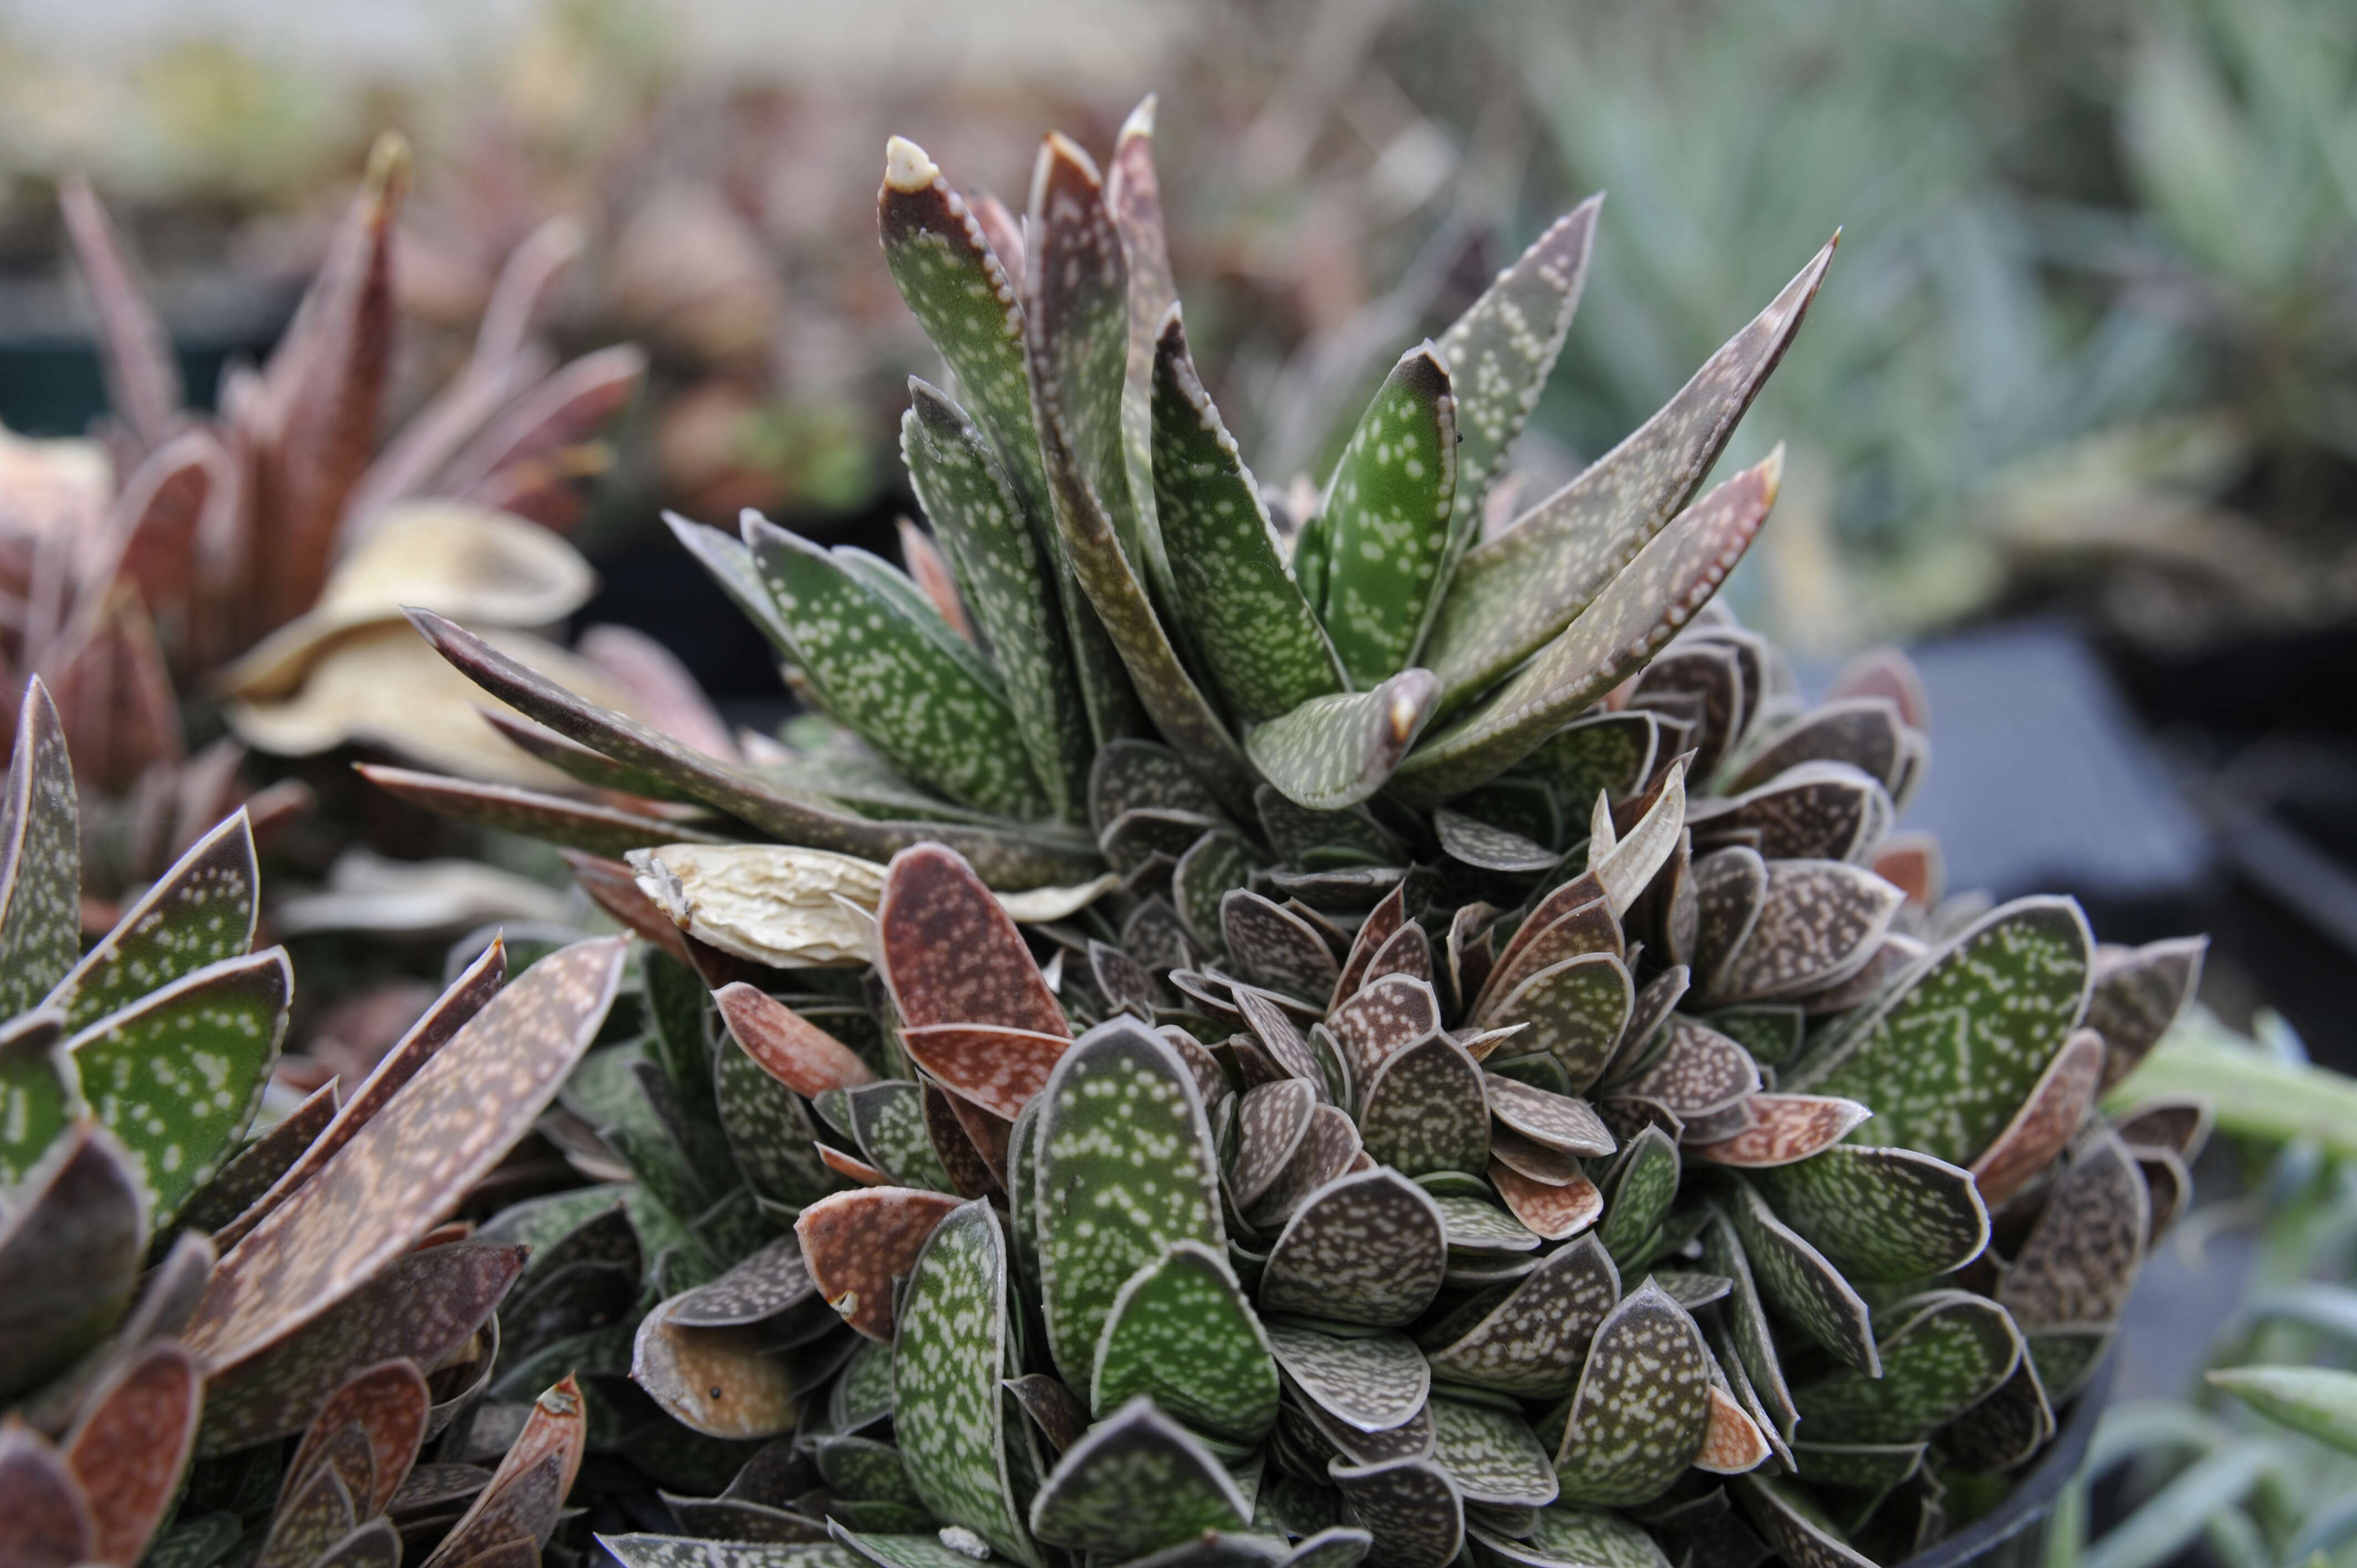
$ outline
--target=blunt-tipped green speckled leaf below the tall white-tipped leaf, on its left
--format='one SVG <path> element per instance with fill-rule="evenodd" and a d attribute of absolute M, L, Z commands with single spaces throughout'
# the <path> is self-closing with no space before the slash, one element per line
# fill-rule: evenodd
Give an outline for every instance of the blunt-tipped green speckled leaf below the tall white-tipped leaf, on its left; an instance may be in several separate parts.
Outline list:
<path fill-rule="evenodd" d="M 948 394 L 910 377 L 900 455 L 933 531 L 950 542 L 962 587 L 1006 681 L 1032 773 L 1056 816 L 1082 809 L 1089 773 L 1089 714 L 1065 644 L 1056 578 L 1039 554 L 1023 502 L 983 431 Z"/>

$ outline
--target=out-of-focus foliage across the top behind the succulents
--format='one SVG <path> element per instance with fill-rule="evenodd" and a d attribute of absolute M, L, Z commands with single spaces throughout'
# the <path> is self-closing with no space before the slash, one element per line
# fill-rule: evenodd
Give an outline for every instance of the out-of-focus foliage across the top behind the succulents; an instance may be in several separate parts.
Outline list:
<path fill-rule="evenodd" d="M 1315 472 L 1402 335 L 1605 189 L 1539 415 L 1563 472 L 1843 226 L 1730 453 L 1796 448 L 1739 585 L 1770 632 L 1836 653 L 2062 597 L 2183 648 L 2357 604 L 2341 0 L 19 2 L 0 330 L 71 314 L 52 193 L 85 170 L 184 340 L 266 337 L 398 125 L 403 304 L 443 328 L 420 358 L 559 212 L 592 236 L 559 335 L 655 354 L 592 554 L 655 505 L 832 531 L 905 505 L 891 415 L 924 368 L 872 264 L 886 127 L 1021 198 L 1039 125 L 1103 144 L 1146 90 L 1190 328 L 1266 481 Z"/>

